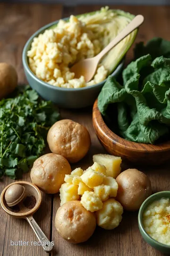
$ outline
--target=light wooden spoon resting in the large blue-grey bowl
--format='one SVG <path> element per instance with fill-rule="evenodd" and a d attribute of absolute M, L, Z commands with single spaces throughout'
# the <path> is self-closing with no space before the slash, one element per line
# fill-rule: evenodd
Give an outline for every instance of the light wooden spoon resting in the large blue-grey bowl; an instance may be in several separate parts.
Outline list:
<path fill-rule="evenodd" d="M 81 75 L 85 77 L 85 82 L 92 80 L 97 65 L 102 57 L 107 54 L 114 46 L 116 46 L 121 40 L 127 37 L 132 31 L 139 27 L 144 22 L 142 15 L 137 15 L 128 25 L 125 27 L 117 37 L 115 37 L 109 45 L 107 45 L 98 55 L 93 58 L 83 59 L 77 62 L 71 67 L 71 72 L 75 73 L 75 77 L 79 78 Z"/>

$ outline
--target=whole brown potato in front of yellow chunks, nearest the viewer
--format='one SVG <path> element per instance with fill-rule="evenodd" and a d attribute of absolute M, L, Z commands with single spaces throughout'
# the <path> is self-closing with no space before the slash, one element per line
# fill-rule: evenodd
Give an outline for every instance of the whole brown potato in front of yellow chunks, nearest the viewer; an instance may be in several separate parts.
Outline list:
<path fill-rule="evenodd" d="M 80 201 L 68 201 L 57 210 L 55 227 L 62 238 L 77 244 L 93 235 L 96 219 L 94 213 L 86 210 Z"/>

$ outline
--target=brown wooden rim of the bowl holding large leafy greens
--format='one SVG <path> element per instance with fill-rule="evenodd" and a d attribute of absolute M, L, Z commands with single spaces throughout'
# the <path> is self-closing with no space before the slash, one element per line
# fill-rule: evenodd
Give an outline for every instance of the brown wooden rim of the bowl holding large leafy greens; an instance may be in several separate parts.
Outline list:
<path fill-rule="evenodd" d="M 170 150 L 170 141 L 162 142 L 158 145 L 154 144 L 144 144 L 144 143 L 137 143 L 133 141 L 129 141 L 122 137 L 119 137 L 110 128 L 106 125 L 102 118 L 102 114 L 98 109 L 98 99 L 94 102 L 93 105 L 93 122 L 95 122 L 96 126 L 99 128 L 100 132 L 103 136 L 107 137 L 110 142 L 114 142 L 120 148 L 125 148 L 127 150 L 133 152 L 142 152 L 142 153 L 155 153 L 155 152 L 165 152 Z M 105 131 L 104 131 L 104 129 Z M 147 149 L 146 149 L 147 146 Z"/>

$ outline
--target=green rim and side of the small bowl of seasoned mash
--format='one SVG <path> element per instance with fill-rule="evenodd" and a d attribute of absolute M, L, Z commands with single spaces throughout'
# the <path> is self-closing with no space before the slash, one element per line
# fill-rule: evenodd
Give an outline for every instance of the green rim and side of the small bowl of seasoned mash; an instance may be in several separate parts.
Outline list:
<path fill-rule="evenodd" d="M 144 210 L 144 206 L 145 204 L 150 201 L 153 197 L 155 197 L 155 200 L 157 198 L 158 195 L 160 194 L 164 194 L 164 193 L 169 193 L 170 194 L 170 191 L 160 191 L 160 192 L 156 192 L 154 194 L 152 194 L 151 196 L 149 196 L 148 198 L 146 198 L 144 200 L 144 202 L 142 203 L 140 209 L 139 209 L 139 212 L 138 212 L 138 226 L 140 227 L 140 229 L 142 230 L 142 232 L 144 233 L 144 235 L 146 236 L 146 238 L 150 241 L 150 242 L 153 242 L 155 245 L 157 246 L 161 246 L 161 247 L 164 247 L 164 248 L 167 248 L 167 249 L 170 249 L 170 246 L 169 245 L 165 245 L 165 244 L 162 244 L 158 241 L 156 241 L 155 239 L 153 239 L 151 236 L 148 235 L 148 233 L 145 231 L 144 229 L 144 225 L 143 225 L 143 221 L 142 221 L 142 211 Z M 163 195 L 162 195 L 163 197 Z M 164 197 L 167 197 L 167 196 L 164 196 Z M 139 229 L 139 230 L 140 230 Z M 141 230 L 140 230 L 140 233 L 141 233 Z"/>

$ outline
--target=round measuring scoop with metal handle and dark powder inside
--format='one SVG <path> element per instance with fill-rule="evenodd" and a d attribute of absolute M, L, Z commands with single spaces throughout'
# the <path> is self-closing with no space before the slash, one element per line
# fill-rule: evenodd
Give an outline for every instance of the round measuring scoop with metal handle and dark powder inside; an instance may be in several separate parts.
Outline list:
<path fill-rule="evenodd" d="M 5 192 L 8 190 L 8 188 L 11 185 L 14 184 L 20 184 L 25 188 L 26 196 L 34 196 L 36 198 L 35 206 L 32 209 L 26 208 L 23 201 L 20 201 L 17 206 L 19 207 L 18 212 L 13 212 L 12 209 L 8 206 L 6 200 L 5 200 Z M 42 202 L 42 196 L 40 190 L 32 183 L 20 181 L 20 182 L 14 182 L 9 184 L 7 187 L 4 188 L 4 190 L 1 192 L 0 195 L 0 204 L 10 216 L 13 216 L 15 218 L 23 218 L 28 221 L 31 228 L 34 230 L 34 233 L 38 240 L 41 242 L 41 245 L 45 252 L 50 253 L 52 250 L 52 245 L 50 243 L 50 240 L 45 236 L 45 234 L 42 232 L 41 228 L 38 226 L 36 221 L 33 218 L 33 214 L 35 211 L 38 210 Z"/>

